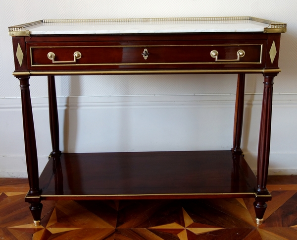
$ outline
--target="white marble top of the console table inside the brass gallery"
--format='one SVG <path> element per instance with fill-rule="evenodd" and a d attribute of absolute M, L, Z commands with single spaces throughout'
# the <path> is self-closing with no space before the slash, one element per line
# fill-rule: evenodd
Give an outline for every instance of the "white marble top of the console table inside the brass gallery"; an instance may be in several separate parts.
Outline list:
<path fill-rule="evenodd" d="M 269 24 L 252 20 L 225 21 L 102 21 L 42 22 L 25 29 L 37 34 L 128 34 L 128 33 L 201 33 L 201 32 L 263 32 Z"/>

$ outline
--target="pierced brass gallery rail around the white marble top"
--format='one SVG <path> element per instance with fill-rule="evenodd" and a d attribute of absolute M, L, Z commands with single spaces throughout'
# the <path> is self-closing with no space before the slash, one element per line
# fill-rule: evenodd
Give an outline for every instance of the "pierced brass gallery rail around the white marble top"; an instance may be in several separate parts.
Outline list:
<path fill-rule="evenodd" d="M 107 19 L 44 19 L 40 21 L 25 23 L 21 25 L 8 27 L 8 33 L 10 36 L 30 36 L 30 31 L 26 27 L 44 24 L 44 23 L 90 23 L 90 22 L 193 22 L 193 21 L 256 21 L 265 24 L 269 24 L 264 28 L 264 33 L 285 33 L 287 32 L 287 24 L 282 22 L 270 21 L 266 19 L 256 17 L 172 17 L 172 18 L 107 18 Z"/>

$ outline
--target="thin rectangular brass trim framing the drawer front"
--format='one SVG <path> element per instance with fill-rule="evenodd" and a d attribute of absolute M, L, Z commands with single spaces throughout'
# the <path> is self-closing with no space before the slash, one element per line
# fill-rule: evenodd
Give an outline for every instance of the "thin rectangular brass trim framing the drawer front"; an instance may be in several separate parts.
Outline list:
<path fill-rule="evenodd" d="M 30 60 L 31 60 L 31 66 L 57 66 L 56 64 L 33 64 L 33 59 L 32 59 L 32 49 L 33 48 L 128 48 L 128 47 L 199 47 L 199 46 L 260 46 L 260 60 L 258 62 L 236 62 L 236 61 L 230 61 L 230 62 L 144 62 L 144 63 L 85 63 L 85 64 L 58 64 L 59 66 L 71 66 L 71 65 L 81 65 L 81 66 L 86 66 L 86 65 L 145 65 L 145 64 L 260 64 L 262 63 L 262 49 L 263 49 L 263 44 L 194 44 L 194 45 L 111 45 L 111 46 L 31 46 L 30 47 Z"/>

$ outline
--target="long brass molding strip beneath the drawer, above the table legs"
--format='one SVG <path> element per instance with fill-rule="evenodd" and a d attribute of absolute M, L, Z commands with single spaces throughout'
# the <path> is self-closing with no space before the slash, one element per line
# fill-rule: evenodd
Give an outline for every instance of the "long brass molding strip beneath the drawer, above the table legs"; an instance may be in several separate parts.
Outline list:
<path fill-rule="evenodd" d="M 281 69 L 215 69 L 215 70 L 110 70 L 110 71 L 24 71 L 24 72 L 13 72 L 14 76 L 22 75 L 95 75 L 95 74 L 162 74 L 162 73 L 273 73 L 281 72 Z"/>

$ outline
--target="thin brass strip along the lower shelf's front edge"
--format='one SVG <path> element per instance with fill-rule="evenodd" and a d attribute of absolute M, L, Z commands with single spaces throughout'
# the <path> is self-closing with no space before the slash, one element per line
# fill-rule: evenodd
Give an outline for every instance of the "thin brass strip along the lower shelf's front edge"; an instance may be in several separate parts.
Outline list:
<path fill-rule="evenodd" d="M 198 196 L 198 195 L 255 195 L 254 192 L 226 192 L 226 193 L 156 193 L 156 194 L 109 194 L 109 195 L 40 195 L 40 197 L 134 197 L 134 196 Z"/>

